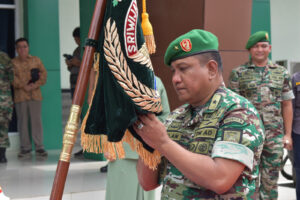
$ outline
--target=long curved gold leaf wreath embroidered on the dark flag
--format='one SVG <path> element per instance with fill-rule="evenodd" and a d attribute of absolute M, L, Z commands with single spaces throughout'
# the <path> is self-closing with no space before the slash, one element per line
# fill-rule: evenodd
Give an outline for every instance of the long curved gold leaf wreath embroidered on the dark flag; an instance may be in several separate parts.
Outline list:
<path fill-rule="evenodd" d="M 121 50 L 116 23 L 107 20 L 105 27 L 104 56 L 120 86 L 141 109 L 159 113 L 162 110 L 159 94 L 142 84 L 131 72 Z"/>

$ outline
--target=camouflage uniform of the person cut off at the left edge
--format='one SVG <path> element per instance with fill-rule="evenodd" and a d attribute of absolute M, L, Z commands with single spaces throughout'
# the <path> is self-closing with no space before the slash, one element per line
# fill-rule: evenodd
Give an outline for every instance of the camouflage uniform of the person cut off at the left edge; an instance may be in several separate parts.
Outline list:
<path fill-rule="evenodd" d="M 10 89 L 12 81 L 12 63 L 7 54 L 0 51 L 0 148 L 9 147 L 7 132 L 13 109 Z"/>

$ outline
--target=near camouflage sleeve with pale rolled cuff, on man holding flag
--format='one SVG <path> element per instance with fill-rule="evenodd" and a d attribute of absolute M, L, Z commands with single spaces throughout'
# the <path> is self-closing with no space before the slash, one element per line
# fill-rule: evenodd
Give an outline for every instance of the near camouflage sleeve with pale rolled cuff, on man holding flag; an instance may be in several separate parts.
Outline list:
<path fill-rule="evenodd" d="M 238 161 L 250 170 L 259 159 L 263 145 L 263 125 L 258 115 L 247 109 L 231 111 L 223 119 L 212 158 Z"/>

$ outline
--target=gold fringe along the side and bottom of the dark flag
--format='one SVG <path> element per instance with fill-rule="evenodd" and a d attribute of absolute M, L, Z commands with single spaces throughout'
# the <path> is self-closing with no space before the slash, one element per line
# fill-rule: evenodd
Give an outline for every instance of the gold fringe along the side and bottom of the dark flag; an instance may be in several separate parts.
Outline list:
<path fill-rule="evenodd" d="M 99 77 L 99 53 L 95 53 L 94 56 L 94 71 L 96 72 L 95 83 L 93 87 L 92 99 L 94 98 L 96 92 L 96 86 L 98 83 Z M 91 101 L 92 102 L 92 101 Z M 82 125 L 81 125 L 81 146 L 84 151 L 92 153 L 105 153 L 107 152 L 111 159 L 123 159 L 125 158 L 125 151 L 123 148 L 123 142 L 127 142 L 133 151 L 136 151 L 138 155 L 142 158 L 145 165 L 150 169 L 157 169 L 158 164 L 161 160 L 160 153 L 155 150 L 153 153 L 150 153 L 143 148 L 143 144 L 135 139 L 129 130 L 126 130 L 122 140 L 120 142 L 109 142 L 106 135 L 91 135 L 85 133 L 86 121 L 89 116 L 91 109 L 91 103 L 87 114 L 85 115 Z"/>

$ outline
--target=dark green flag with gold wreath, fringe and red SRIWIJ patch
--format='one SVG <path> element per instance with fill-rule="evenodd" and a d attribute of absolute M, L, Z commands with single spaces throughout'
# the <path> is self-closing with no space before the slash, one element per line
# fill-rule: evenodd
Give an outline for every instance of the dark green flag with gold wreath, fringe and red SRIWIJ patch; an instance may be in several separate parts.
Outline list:
<path fill-rule="evenodd" d="M 98 52 L 98 77 L 82 125 L 82 147 L 123 158 L 126 141 L 154 169 L 159 153 L 132 128 L 139 114 L 162 110 L 136 0 L 107 0 Z"/>

